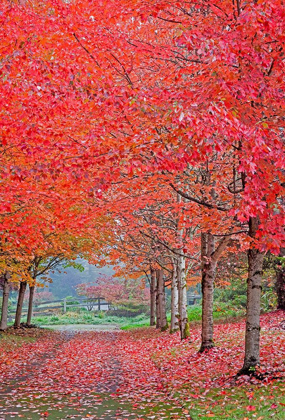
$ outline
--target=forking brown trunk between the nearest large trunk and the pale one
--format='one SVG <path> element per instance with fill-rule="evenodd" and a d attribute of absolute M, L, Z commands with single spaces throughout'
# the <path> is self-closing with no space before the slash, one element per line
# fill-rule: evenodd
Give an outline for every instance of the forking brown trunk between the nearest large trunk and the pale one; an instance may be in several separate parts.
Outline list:
<path fill-rule="evenodd" d="M 201 233 L 201 269 L 202 269 L 202 343 L 200 352 L 214 347 L 213 339 L 213 297 L 216 275 L 216 262 L 212 255 L 215 240 L 210 233 Z"/>

